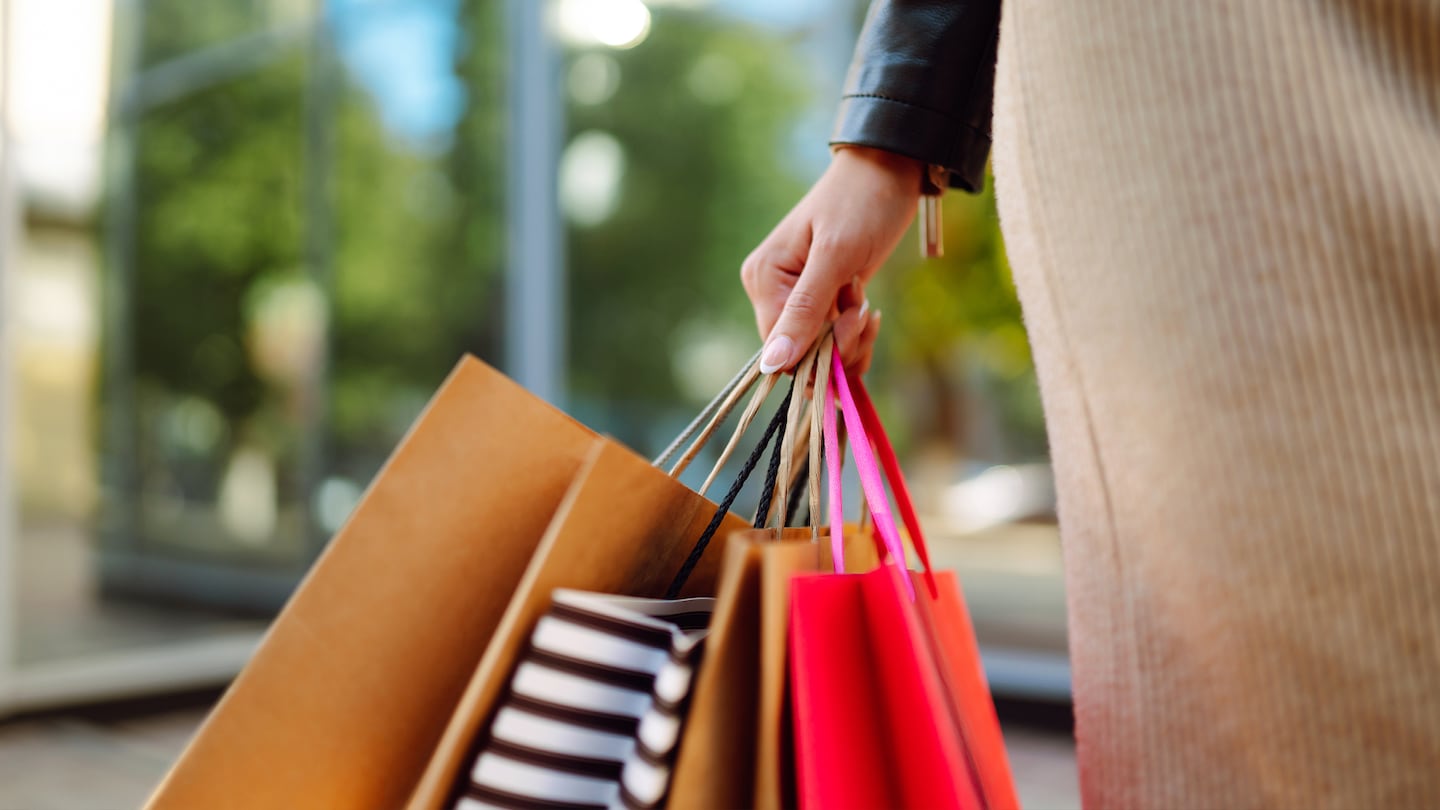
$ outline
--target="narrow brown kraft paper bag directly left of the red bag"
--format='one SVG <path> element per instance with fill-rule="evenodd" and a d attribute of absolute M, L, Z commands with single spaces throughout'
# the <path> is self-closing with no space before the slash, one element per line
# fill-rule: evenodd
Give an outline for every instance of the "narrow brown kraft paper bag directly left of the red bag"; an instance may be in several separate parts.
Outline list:
<path fill-rule="evenodd" d="M 868 533 L 845 535 L 845 562 L 877 562 Z M 706 659 L 680 742 L 670 807 L 793 806 L 786 736 L 786 628 L 795 574 L 831 571 L 829 532 L 749 529 L 730 535 Z"/>

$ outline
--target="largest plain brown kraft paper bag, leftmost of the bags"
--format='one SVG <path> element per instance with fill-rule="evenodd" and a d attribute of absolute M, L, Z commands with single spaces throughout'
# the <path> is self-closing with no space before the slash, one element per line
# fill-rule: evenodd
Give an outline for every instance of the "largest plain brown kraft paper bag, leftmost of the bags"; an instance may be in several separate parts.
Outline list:
<path fill-rule="evenodd" d="M 461 360 L 148 806 L 402 806 L 596 442 Z"/>

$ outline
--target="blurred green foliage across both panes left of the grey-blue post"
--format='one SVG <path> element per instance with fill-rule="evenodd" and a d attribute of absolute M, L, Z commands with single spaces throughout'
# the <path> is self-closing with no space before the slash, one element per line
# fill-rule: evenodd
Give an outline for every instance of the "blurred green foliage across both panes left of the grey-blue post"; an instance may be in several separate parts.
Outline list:
<path fill-rule="evenodd" d="M 271 6 L 150 0 L 141 62 L 262 29 L 275 22 L 266 23 Z M 494 228 L 498 205 L 462 210 L 446 156 L 397 146 L 370 95 L 308 45 L 291 40 L 256 69 L 148 110 L 134 127 L 134 277 L 112 307 L 128 308 L 135 346 L 141 476 L 187 497 L 213 497 L 240 442 L 278 463 L 289 497 L 305 497 L 295 486 L 307 442 L 369 477 L 456 356 L 487 342 L 484 287 L 495 262 L 467 274 L 454 242 Z M 315 69 L 330 78 L 311 84 Z M 318 105 L 314 130 L 310 105 Z M 487 112 L 498 117 L 494 104 Z M 314 159 L 324 167 L 321 210 L 307 209 Z M 308 249 L 312 228 L 330 236 L 318 255 Z M 266 372 L 266 352 L 305 353 L 305 342 L 285 343 L 285 319 L 307 319 L 311 334 L 328 339 L 328 362 L 305 363 L 325 375 L 324 412 L 314 388 Z M 222 430 L 186 441 L 176 424 L 197 414 Z M 317 442 L 317 431 L 328 441 Z"/>

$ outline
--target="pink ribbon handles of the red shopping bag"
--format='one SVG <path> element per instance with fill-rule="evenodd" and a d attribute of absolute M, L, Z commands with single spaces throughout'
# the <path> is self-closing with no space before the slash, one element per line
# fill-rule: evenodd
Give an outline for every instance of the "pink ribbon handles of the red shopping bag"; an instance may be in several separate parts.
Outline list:
<path fill-rule="evenodd" d="M 910 578 L 910 568 L 906 565 L 904 545 L 900 540 L 900 529 L 896 528 L 896 519 L 890 513 L 890 499 L 886 497 L 886 486 L 880 479 L 880 466 L 876 463 L 874 450 L 870 445 L 870 435 L 865 432 L 865 425 L 860 419 L 860 411 L 855 408 L 855 399 L 850 392 L 850 380 L 845 378 L 845 363 L 841 362 L 840 353 L 831 355 L 831 385 L 825 391 L 825 453 L 832 460 L 840 455 L 838 438 L 835 438 L 835 408 L 834 396 L 840 392 L 840 408 L 845 417 L 845 430 L 850 431 L 850 451 L 855 457 L 855 470 L 860 473 L 860 487 L 865 493 L 865 502 L 870 504 L 870 513 L 876 519 L 876 529 L 884 539 L 886 551 L 890 556 L 890 564 L 900 569 L 904 579 L 906 592 L 914 600 L 914 582 Z M 831 445 L 835 450 L 831 450 Z M 835 571 L 844 571 L 844 540 L 841 536 L 841 526 L 844 523 L 844 512 L 840 506 L 840 461 L 835 460 L 827 466 L 829 470 L 829 542 L 831 552 L 835 556 Z M 838 553 L 837 553 L 838 552 Z M 926 555 L 929 556 L 929 555 Z M 929 568 L 926 568 L 929 571 Z"/>

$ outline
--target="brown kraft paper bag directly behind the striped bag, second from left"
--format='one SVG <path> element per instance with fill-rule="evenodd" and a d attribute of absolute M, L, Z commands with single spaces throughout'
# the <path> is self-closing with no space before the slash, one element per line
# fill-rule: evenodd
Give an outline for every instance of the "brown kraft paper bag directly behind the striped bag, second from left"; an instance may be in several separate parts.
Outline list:
<path fill-rule="evenodd" d="M 458 798 L 484 742 L 477 738 L 556 588 L 664 597 L 714 512 L 714 503 L 649 461 L 612 441 L 598 442 L 514 588 L 444 736 L 426 751 L 433 755 L 408 807 L 441 810 Z M 681 597 L 714 595 L 724 538 L 744 528 L 734 515 L 724 517 L 720 542 L 700 559 Z"/>

